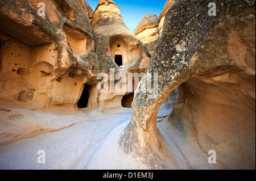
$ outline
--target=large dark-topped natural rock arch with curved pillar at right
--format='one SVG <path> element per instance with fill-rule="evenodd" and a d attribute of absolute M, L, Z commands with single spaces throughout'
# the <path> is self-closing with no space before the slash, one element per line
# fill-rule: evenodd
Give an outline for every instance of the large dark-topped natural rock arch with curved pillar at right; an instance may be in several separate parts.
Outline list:
<path fill-rule="evenodd" d="M 159 74 L 159 96 L 135 92 L 132 120 L 119 137 L 124 153 L 145 157 L 152 169 L 175 168 L 175 158 L 164 159 L 170 155 L 156 115 L 180 85 L 168 121 L 185 144 L 205 156 L 216 150 L 222 168 L 255 169 L 255 1 L 216 1 L 217 16 L 209 16 L 210 2 L 179 0 L 168 11 L 146 69 Z"/>

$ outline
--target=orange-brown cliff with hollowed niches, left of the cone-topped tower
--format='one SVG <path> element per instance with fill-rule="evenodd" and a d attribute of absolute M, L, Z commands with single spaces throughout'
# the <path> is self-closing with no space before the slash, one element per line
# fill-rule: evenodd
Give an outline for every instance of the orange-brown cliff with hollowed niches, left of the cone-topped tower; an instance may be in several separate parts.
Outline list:
<path fill-rule="evenodd" d="M 85 2 L 0 1 L 0 19 L 1 105 L 74 107 L 95 58 Z"/>

